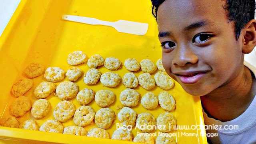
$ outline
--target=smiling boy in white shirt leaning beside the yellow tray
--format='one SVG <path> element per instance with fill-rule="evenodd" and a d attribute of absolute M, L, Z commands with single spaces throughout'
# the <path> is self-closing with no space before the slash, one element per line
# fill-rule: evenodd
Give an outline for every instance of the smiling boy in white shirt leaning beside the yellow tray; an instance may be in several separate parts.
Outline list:
<path fill-rule="evenodd" d="M 186 92 L 200 96 L 206 125 L 225 130 L 209 143 L 256 143 L 255 0 L 152 0 L 162 63 Z M 254 98 L 255 97 L 255 98 Z M 233 127 L 238 125 L 238 129 Z"/>

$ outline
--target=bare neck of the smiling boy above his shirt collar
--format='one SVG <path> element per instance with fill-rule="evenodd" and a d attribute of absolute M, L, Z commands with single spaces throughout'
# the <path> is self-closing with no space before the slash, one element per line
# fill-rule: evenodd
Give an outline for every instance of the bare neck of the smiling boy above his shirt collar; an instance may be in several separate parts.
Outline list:
<path fill-rule="evenodd" d="M 222 122 L 237 118 L 248 108 L 256 94 L 255 81 L 254 75 L 244 66 L 228 84 L 201 96 L 204 110 Z"/>

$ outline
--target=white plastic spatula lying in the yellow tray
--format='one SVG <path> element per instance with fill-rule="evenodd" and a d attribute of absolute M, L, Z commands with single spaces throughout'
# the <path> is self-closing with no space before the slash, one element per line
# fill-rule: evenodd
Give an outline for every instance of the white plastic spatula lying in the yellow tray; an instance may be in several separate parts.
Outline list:
<path fill-rule="evenodd" d="M 144 35 L 148 31 L 148 24 L 141 23 L 141 22 L 132 22 L 127 20 L 118 20 L 116 22 L 108 22 L 108 21 L 98 20 L 96 18 L 72 16 L 72 15 L 66 15 L 66 14 L 62 16 L 62 19 L 73 21 L 73 22 L 81 22 L 84 24 L 112 26 L 118 32 L 124 32 L 128 34 Z"/>

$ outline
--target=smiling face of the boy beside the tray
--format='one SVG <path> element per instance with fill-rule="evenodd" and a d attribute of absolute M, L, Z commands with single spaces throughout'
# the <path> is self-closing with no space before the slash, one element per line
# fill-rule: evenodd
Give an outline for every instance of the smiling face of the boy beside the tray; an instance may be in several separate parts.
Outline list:
<path fill-rule="evenodd" d="M 165 0 L 158 8 L 163 66 L 194 96 L 224 86 L 242 70 L 242 40 L 236 41 L 225 2 Z"/>

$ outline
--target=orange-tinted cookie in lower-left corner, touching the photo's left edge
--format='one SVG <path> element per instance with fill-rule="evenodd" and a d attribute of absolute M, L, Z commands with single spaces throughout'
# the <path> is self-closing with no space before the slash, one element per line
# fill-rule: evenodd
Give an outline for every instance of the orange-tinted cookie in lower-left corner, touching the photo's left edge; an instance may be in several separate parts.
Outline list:
<path fill-rule="evenodd" d="M 6 116 L 0 119 L 0 126 L 18 128 L 19 122 L 14 116 Z"/>

